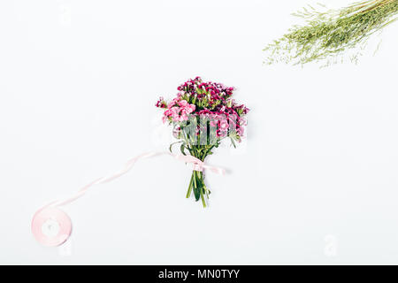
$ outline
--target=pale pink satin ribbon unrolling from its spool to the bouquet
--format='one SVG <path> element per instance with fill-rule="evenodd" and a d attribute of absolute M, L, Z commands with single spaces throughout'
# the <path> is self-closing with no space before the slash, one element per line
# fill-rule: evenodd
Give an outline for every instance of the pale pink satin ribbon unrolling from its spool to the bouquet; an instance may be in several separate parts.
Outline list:
<path fill-rule="evenodd" d="M 68 203 L 74 202 L 81 196 L 85 195 L 86 192 L 88 191 L 88 188 L 90 188 L 90 187 L 93 187 L 93 186 L 99 185 L 99 184 L 108 183 L 111 180 L 115 180 L 115 179 L 119 178 L 120 176 L 126 174 L 126 172 L 129 172 L 130 169 L 133 168 L 135 162 L 137 162 L 138 160 L 146 159 L 146 158 L 150 158 L 150 157 L 157 157 L 157 156 L 161 156 L 161 155 L 169 155 L 169 156 L 172 156 L 172 157 L 176 158 L 177 160 L 180 160 L 184 163 L 194 164 L 194 171 L 203 172 L 204 169 L 208 169 L 211 172 L 221 174 L 221 175 L 224 175 L 226 173 L 225 169 L 216 167 L 216 166 L 211 166 L 208 164 L 204 164 L 204 162 L 202 160 L 200 160 L 196 157 L 193 157 L 193 156 L 188 156 L 188 155 L 184 156 L 182 154 L 172 154 L 172 153 L 165 152 L 165 151 L 143 153 L 140 156 L 137 156 L 137 157 L 134 157 L 134 158 L 131 158 L 130 160 L 128 160 L 126 162 L 125 166 L 119 172 L 115 172 L 111 175 L 93 180 L 92 182 L 88 183 L 86 186 L 81 187 L 80 190 L 76 194 L 74 194 L 64 200 L 56 200 L 51 203 L 48 203 L 45 206 L 43 206 L 40 210 L 37 210 L 36 213 L 34 214 L 34 218 L 32 220 L 32 233 L 34 233 L 34 237 L 36 238 L 37 241 L 41 242 L 45 246 L 58 246 L 58 245 L 62 244 L 63 242 L 66 241 L 66 239 L 70 236 L 70 233 L 72 232 L 72 222 L 71 222 L 70 218 L 68 218 L 67 216 L 65 217 L 65 215 L 66 215 L 65 212 L 57 209 L 57 207 L 64 206 Z M 60 217 L 60 216 L 62 216 L 62 217 Z M 58 225 L 61 227 L 62 234 L 58 233 L 54 237 L 49 237 L 48 235 L 44 235 L 42 233 L 42 225 L 47 219 L 57 221 Z"/>

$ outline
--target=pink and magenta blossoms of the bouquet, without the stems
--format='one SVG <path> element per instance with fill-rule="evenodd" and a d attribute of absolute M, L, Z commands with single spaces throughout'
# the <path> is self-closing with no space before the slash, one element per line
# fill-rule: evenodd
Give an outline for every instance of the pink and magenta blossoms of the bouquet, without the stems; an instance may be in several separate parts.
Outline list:
<path fill-rule="evenodd" d="M 197 119 L 196 134 L 205 130 L 201 126 L 210 125 L 216 130 L 218 138 L 230 136 L 240 142 L 246 126 L 244 116 L 249 109 L 231 98 L 234 88 L 217 82 L 203 82 L 200 77 L 196 77 L 177 89 L 179 93 L 170 103 L 166 103 L 163 97 L 157 101 L 156 106 L 165 109 L 164 122 L 177 124 L 181 130 L 182 122 Z"/>

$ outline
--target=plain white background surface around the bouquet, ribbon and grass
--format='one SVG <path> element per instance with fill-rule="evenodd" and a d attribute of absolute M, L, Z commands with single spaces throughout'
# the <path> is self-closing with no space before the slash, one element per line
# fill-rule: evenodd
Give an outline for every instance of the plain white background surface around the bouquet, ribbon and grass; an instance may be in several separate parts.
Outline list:
<path fill-rule="evenodd" d="M 0 264 L 397 264 L 398 24 L 359 65 L 263 65 L 309 3 L 2 1 Z M 34 241 L 39 207 L 167 148 L 154 103 L 196 75 L 251 109 L 210 208 L 157 157 L 65 207 L 68 246 Z"/>

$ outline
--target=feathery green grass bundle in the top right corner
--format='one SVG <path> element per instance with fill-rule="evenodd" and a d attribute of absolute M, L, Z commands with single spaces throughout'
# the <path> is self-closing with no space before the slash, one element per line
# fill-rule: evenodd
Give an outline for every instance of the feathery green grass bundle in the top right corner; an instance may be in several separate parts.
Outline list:
<path fill-rule="evenodd" d="M 323 5 L 322 5 L 323 6 Z M 325 7 L 325 6 L 323 6 Z M 396 20 L 398 0 L 371 0 L 352 4 L 340 10 L 318 11 L 309 6 L 294 15 L 306 25 L 295 26 L 264 51 L 265 64 L 278 62 L 303 65 L 341 57 L 367 42 L 371 34 L 381 31 Z M 359 51 L 351 56 L 356 61 Z"/>

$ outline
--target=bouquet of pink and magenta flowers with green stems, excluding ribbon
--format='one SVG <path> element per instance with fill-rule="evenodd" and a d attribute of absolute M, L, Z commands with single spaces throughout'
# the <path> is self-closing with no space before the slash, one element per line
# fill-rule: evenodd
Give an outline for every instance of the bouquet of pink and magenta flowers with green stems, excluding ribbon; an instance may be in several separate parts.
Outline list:
<path fill-rule="evenodd" d="M 241 142 L 247 124 L 244 117 L 249 109 L 232 99 L 234 88 L 217 82 L 203 82 L 196 77 L 177 89 L 179 93 L 171 102 L 167 103 L 160 97 L 156 104 L 164 110 L 163 121 L 172 125 L 172 134 L 179 140 L 170 145 L 170 151 L 173 144 L 180 143 L 183 155 L 189 153 L 204 162 L 221 140 L 229 138 L 233 147 L 236 147 L 235 142 Z M 206 207 L 210 190 L 204 184 L 203 171 L 195 168 L 187 198 L 192 192 L 196 202 L 202 199 L 203 207 Z"/>

